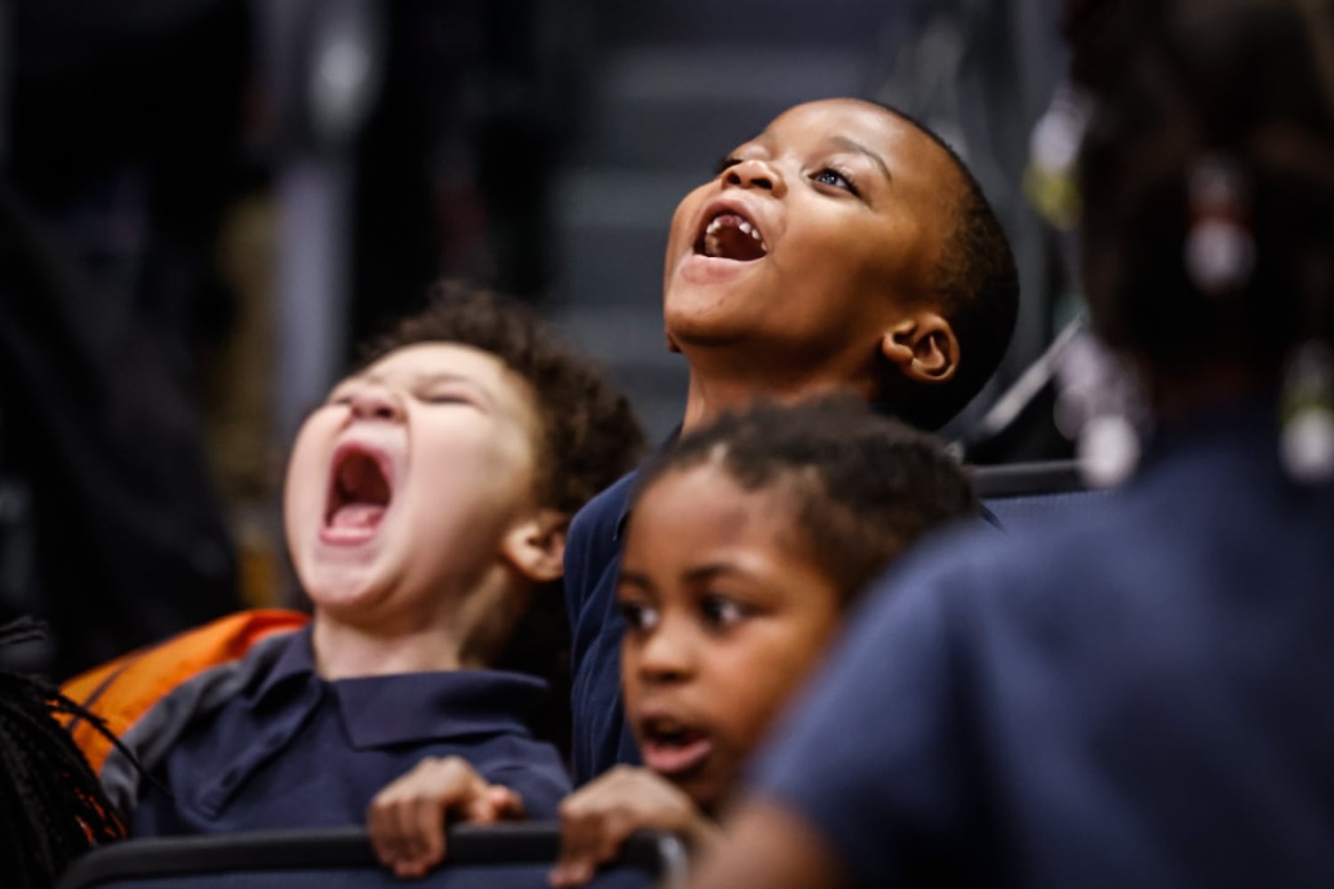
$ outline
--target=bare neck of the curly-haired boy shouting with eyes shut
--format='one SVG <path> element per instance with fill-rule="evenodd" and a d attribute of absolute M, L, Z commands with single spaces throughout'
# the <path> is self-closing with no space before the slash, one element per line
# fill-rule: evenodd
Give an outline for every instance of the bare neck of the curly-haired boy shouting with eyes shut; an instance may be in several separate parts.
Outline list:
<path fill-rule="evenodd" d="M 392 597 L 390 597 L 392 601 Z M 321 678 L 480 669 L 508 638 L 528 597 L 495 565 L 468 590 L 440 593 L 427 614 L 338 614 L 316 608 L 312 645 Z"/>

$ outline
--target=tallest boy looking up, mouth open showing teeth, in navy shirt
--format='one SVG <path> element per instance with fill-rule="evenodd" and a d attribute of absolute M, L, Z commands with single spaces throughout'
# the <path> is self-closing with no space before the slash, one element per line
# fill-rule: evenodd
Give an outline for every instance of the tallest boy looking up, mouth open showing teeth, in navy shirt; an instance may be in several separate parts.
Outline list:
<path fill-rule="evenodd" d="M 736 145 L 672 215 L 663 327 L 690 367 L 682 429 L 758 399 L 851 389 L 920 429 L 954 417 L 1010 341 L 1014 259 L 934 133 L 874 103 L 796 105 Z M 640 761 L 620 700 L 623 478 L 571 524 L 572 765 Z"/>

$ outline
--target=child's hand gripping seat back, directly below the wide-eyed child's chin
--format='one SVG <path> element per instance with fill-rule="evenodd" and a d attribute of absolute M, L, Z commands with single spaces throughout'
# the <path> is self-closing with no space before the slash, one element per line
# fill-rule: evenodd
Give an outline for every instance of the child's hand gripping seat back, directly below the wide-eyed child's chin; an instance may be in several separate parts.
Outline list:
<path fill-rule="evenodd" d="M 580 886 L 620 852 L 635 830 L 656 828 L 695 848 L 714 840 L 718 825 L 656 772 L 618 765 L 560 804 L 560 858 L 552 886 Z"/>

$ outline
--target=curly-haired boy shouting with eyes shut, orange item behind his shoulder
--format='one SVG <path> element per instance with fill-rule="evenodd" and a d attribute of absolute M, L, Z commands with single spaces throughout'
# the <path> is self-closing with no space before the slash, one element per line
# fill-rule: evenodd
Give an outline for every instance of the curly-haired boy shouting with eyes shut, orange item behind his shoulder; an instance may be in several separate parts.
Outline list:
<path fill-rule="evenodd" d="M 528 726 L 544 685 L 503 668 L 536 666 L 551 620 L 526 617 L 559 621 L 568 518 L 640 441 L 626 400 L 516 307 L 455 296 L 404 321 L 292 448 L 287 542 L 313 620 L 235 616 L 67 688 L 156 778 L 73 728 L 132 833 L 359 824 L 428 754 L 554 814 L 568 780 Z"/>

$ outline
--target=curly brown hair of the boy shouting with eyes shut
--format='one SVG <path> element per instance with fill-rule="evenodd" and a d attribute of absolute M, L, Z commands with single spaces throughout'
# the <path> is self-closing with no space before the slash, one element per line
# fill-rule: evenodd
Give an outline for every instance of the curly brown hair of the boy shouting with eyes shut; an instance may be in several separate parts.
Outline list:
<path fill-rule="evenodd" d="M 540 505 L 575 513 L 643 454 L 644 433 L 626 396 L 524 305 L 444 281 L 432 288 L 426 309 L 372 341 L 362 367 L 419 343 L 491 353 L 531 387 L 542 424 Z"/>

